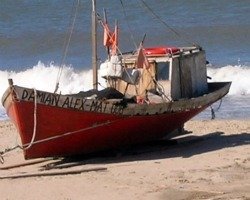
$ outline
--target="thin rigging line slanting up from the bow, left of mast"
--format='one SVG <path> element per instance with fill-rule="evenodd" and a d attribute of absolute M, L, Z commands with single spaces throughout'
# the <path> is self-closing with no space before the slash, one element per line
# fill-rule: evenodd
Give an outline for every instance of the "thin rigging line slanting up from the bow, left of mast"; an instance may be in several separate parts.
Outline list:
<path fill-rule="evenodd" d="M 56 87 L 55 87 L 54 93 L 56 93 L 58 88 L 59 88 L 59 81 L 60 81 L 60 78 L 61 78 L 61 75 L 62 75 L 63 63 L 65 62 L 65 59 L 66 59 L 66 56 L 67 56 L 67 53 L 68 53 L 69 44 L 70 44 L 71 37 L 72 37 L 72 34 L 73 34 L 73 30 L 74 30 L 74 27 L 75 27 L 75 21 L 76 21 L 76 16 L 77 16 L 79 4 L 80 4 L 80 0 L 77 0 L 76 5 L 74 5 L 74 3 L 73 3 L 73 6 L 72 6 L 71 17 L 70 17 L 71 20 L 70 20 L 70 23 L 69 23 L 70 28 L 68 30 L 69 34 L 65 38 L 65 41 L 64 41 L 64 52 L 63 52 L 63 56 L 62 56 L 62 59 L 61 59 L 59 71 L 58 71 L 58 74 L 57 74 L 57 81 L 56 81 Z M 73 15 L 73 11 L 74 11 L 74 15 Z"/>

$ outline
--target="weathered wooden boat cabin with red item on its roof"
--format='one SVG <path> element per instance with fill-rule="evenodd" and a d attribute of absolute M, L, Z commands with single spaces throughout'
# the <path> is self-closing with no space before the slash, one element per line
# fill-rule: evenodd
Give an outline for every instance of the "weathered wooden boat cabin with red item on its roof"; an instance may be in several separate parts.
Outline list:
<path fill-rule="evenodd" d="M 125 96 L 152 102 L 193 98 L 208 91 L 205 51 L 198 47 L 144 49 L 147 66 L 132 53 L 111 56 L 100 66 L 107 85 Z M 156 97 L 160 97 L 157 98 Z"/>

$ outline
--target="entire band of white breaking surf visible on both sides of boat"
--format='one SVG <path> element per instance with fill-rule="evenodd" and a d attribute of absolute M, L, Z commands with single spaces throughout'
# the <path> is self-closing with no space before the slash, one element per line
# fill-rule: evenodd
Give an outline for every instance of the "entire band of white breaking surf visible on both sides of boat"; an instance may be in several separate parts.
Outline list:
<path fill-rule="evenodd" d="M 92 70 L 77 71 L 72 66 L 63 67 L 59 88 L 62 94 L 76 93 L 92 88 Z M 0 96 L 8 87 L 9 78 L 13 79 L 16 85 L 53 92 L 58 73 L 58 65 L 53 62 L 46 65 L 41 61 L 24 71 L 0 70 Z M 212 78 L 210 81 L 231 81 L 230 95 L 250 94 L 250 66 L 227 65 L 219 68 L 209 66 L 207 74 Z M 101 77 L 99 77 L 99 82 L 105 86 L 105 80 Z"/>

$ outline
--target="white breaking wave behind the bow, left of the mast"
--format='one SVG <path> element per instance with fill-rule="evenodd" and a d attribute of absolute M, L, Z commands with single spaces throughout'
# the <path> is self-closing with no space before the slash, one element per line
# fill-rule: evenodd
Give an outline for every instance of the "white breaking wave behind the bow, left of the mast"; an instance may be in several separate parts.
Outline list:
<path fill-rule="evenodd" d="M 8 87 L 8 79 L 12 79 L 15 85 L 53 92 L 58 73 L 58 65 L 54 63 L 46 65 L 40 61 L 24 71 L 0 71 L 0 96 Z M 62 94 L 86 91 L 91 87 L 92 70 L 78 72 L 72 66 L 63 66 L 59 85 L 59 91 Z"/>

